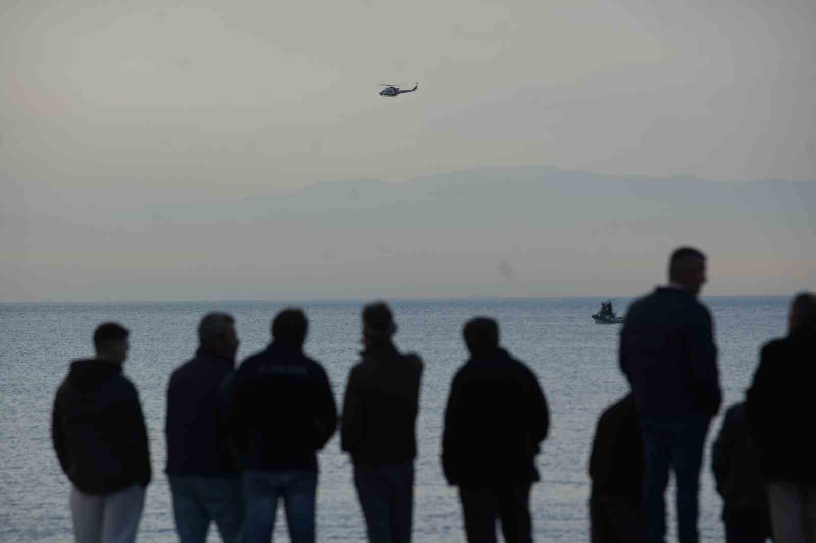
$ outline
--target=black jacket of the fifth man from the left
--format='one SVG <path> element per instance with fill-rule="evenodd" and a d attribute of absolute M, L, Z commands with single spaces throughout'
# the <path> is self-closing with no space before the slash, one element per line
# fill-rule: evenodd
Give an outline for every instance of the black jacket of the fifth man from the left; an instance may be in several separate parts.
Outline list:
<path fill-rule="evenodd" d="M 474 357 L 450 386 L 442 435 L 442 468 L 462 486 L 539 480 L 535 456 L 547 437 L 549 412 L 538 379 L 507 351 Z"/>

